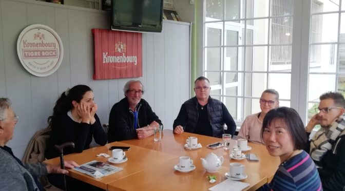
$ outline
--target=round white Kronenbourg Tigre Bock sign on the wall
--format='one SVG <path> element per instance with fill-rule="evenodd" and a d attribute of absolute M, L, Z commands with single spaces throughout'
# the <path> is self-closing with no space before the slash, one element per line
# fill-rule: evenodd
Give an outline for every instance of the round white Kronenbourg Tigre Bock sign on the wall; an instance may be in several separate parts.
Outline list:
<path fill-rule="evenodd" d="M 45 25 L 30 25 L 18 37 L 17 54 L 28 72 L 46 77 L 60 67 L 64 49 L 53 29 Z"/>

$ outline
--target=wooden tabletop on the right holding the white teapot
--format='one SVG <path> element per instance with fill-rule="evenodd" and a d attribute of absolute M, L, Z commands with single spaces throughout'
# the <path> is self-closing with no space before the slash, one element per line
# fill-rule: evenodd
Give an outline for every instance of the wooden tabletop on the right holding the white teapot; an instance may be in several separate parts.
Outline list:
<path fill-rule="evenodd" d="M 186 143 L 186 139 L 189 136 L 197 137 L 198 143 L 201 143 L 202 148 L 196 149 L 196 150 L 185 149 L 184 144 Z M 193 187 L 191 185 L 188 185 L 190 184 L 190 182 L 188 181 L 185 182 L 186 185 L 179 182 L 177 185 L 181 188 L 198 188 L 197 190 L 207 190 L 209 187 L 212 187 L 213 185 L 215 185 L 215 184 L 208 183 L 205 178 L 206 175 L 209 175 L 209 174 L 213 175 L 215 173 L 207 173 L 206 170 L 202 167 L 201 159 L 200 159 L 200 158 L 205 158 L 210 152 L 213 152 L 217 156 L 223 156 L 224 158 L 222 168 L 218 171 L 218 173 L 215 174 L 217 176 L 218 183 L 225 179 L 224 174 L 229 170 L 230 163 L 239 162 L 245 165 L 245 173 L 248 175 L 248 178 L 246 178 L 245 180 L 242 180 L 242 182 L 246 182 L 250 184 L 250 186 L 248 187 L 249 190 L 256 190 L 263 184 L 267 183 L 267 180 L 269 180 L 270 177 L 273 177 L 280 163 L 279 157 L 270 156 L 270 154 L 267 152 L 266 148 L 263 145 L 254 144 L 254 143 L 248 143 L 248 145 L 251 146 L 252 149 L 245 151 L 244 153 L 245 154 L 255 153 L 259 158 L 259 162 L 252 162 L 246 159 L 234 160 L 229 157 L 229 152 L 231 152 L 230 150 L 224 151 L 223 148 L 210 149 L 206 147 L 206 145 L 211 144 L 211 143 L 222 142 L 222 139 L 219 139 L 219 138 L 202 136 L 202 135 L 197 135 L 197 134 L 188 133 L 188 132 L 183 132 L 181 135 L 174 135 L 172 130 L 166 129 L 166 130 L 163 130 L 161 142 L 155 143 L 153 141 L 153 137 L 148 138 L 148 139 L 149 140 L 133 139 L 133 140 L 126 140 L 126 141 L 121 141 L 121 142 L 128 143 L 131 145 L 141 146 L 144 148 L 150 148 L 156 151 L 161 151 L 161 152 L 165 152 L 165 153 L 173 154 L 177 156 L 189 156 L 192 160 L 194 160 L 194 164 L 196 165 L 196 170 L 187 174 L 180 173 L 174 170 L 174 165 L 179 163 L 179 159 L 174 159 L 174 160 L 169 160 L 165 162 L 164 164 L 162 164 L 163 166 L 161 166 L 157 170 L 147 169 L 136 175 L 131 176 L 133 180 L 137 180 L 134 177 L 137 177 L 137 176 L 144 177 L 145 174 L 149 175 L 149 174 L 152 174 L 153 171 L 157 171 L 157 173 L 154 173 L 153 177 L 157 175 L 156 178 L 161 178 L 159 175 L 162 174 L 164 175 L 165 179 L 170 180 L 170 181 L 162 183 L 163 187 L 165 185 L 176 184 L 176 182 L 172 180 L 175 180 L 180 176 L 190 177 L 191 179 L 193 179 L 194 186 L 196 186 L 196 187 Z M 235 144 L 236 144 L 236 141 L 232 140 L 230 147 L 232 148 Z M 179 175 L 179 176 L 176 176 L 176 175 Z M 200 175 L 203 175 L 203 176 L 200 176 Z M 124 182 L 126 181 L 131 182 L 130 181 L 131 177 L 126 177 L 119 181 L 114 181 L 110 183 L 108 186 L 109 190 L 118 190 L 118 189 L 115 189 L 117 185 L 121 185 L 117 188 L 121 188 L 125 190 L 126 189 L 132 190 L 132 188 L 143 189 L 142 187 L 146 187 L 147 186 L 146 184 L 148 184 L 146 181 L 138 181 L 138 183 L 136 181 L 135 183 L 133 182 L 130 183 L 129 187 L 125 187 Z M 157 184 L 155 184 L 155 186 L 157 186 Z M 167 187 L 170 189 L 170 187 L 174 187 L 174 186 L 171 185 Z M 173 189 L 171 188 L 171 190 Z"/>

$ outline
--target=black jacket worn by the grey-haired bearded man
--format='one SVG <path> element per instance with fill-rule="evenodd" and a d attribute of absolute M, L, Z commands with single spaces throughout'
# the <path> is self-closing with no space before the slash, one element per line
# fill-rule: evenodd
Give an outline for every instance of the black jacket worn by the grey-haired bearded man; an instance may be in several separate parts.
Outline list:
<path fill-rule="evenodd" d="M 156 113 L 152 111 L 150 105 L 141 99 L 137 105 L 138 111 L 138 126 L 145 127 L 156 121 L 162 125 L 161 120 Z M 134 115 L 129 109 L 127 98 L 122 99 L 120 102 L 114 104 L 109 114 L 109 130 L 108 141 L 122 141 L 129 139 L 137 139 L 137 130 L 134 128 Z"/>

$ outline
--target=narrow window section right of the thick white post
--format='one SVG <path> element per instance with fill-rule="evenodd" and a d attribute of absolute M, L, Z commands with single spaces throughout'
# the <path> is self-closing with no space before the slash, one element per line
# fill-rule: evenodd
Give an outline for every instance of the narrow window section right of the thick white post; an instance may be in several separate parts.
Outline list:
<path fill-rule="evenodd" d="M 340 6 L 340 3 L 342 5 Z M 313 1 L 309 61 L 308 117 L 315 113 L 319 95 L 345 94 L 345 1 Z"/>

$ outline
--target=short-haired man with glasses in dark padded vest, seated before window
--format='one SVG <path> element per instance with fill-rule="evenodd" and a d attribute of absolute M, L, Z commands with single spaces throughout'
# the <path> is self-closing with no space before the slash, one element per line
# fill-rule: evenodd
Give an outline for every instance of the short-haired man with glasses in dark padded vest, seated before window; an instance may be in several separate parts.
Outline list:
<path fill-rule="evenodd" d="M 209 96 L 211 88 L 208 79 L 199 77 L 194 85 L 196 96 L 182 104 L 174 121 L 174 133 L 186 131 L 221 138 L 225 132 L 234 136 L 234 119 L 222 102 Z M 224 123 L 227 126 L 225 131 Z"/>

